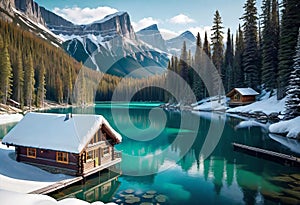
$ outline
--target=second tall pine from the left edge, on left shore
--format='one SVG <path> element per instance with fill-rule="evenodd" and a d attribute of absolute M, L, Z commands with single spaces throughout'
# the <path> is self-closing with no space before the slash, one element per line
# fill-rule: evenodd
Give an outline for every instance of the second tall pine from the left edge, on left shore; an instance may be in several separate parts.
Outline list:
<path fill-rule="evenodd" d="M 17 62 L 13 68 L 13 98 L 20 103 L 21 108 L 24 105 L 24 71 L 21 50 L 17 51 Z"/>

